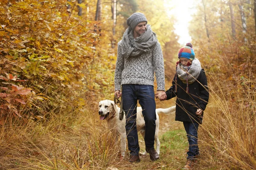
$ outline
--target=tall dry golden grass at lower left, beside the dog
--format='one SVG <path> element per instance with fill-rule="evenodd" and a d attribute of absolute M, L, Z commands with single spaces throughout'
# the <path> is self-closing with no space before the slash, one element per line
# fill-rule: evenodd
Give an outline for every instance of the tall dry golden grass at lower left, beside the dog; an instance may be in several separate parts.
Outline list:
<path fill-rule="evenodd" d="M 17 170 L 108 167 L 118 157 L 119 144 L 94 111 L 76 105 L 59 109 L 60 114 L 52 112 L 47 119 L 29 119 L 26 124 L 23 119 L 12 124 L 6 121 L 0 127 L 0 167 Z"/>

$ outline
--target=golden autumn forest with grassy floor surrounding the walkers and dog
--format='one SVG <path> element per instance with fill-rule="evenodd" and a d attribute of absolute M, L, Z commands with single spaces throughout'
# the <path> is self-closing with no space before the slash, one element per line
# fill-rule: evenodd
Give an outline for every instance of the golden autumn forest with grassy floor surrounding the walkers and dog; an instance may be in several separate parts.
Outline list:
<path fill-rule="evenodd" d="M 176 1 L 176 3 L 175 3 Z M 180 0 L 194 12 L 188 33 L 207 75 L 197 170 L 256 170 L 256 0 Z M 177 170 L 186 132 L 160 115 L 160 160 L 131 164 L 99 119 L 113 100 L 117 43 L 142 12 L 157 34 L 166 90 L 179 49 L 177 0 L 1 0 L 0 170 Z M 180 14 L 183 11 L 179 11 Z M 156 90 L 156 81 L 155 86 Z M 175 105 L 175 99 L 157 108 Z M 143 150 L 143 139 L 140 139 Z M 145 146 L 144 146 L 145 147 Z"/>

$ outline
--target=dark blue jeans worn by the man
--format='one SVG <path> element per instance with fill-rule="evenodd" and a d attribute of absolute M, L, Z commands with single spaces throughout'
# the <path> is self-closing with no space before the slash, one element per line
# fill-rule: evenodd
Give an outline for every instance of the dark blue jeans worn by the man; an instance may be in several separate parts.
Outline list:
<path fill-rule="evenodd" d="M 128 149 L 131 155 L 137 156 L 139 156 L 140 151 L 136 126 L 138 100 L 142 107 L 142 114 L 145 120 L 145 147 L 153 149 L 157 119 L 154 87 L 152 85 L 122 85 L 122 101 L 123 110 L 125 111 L 125 130 Z"/>

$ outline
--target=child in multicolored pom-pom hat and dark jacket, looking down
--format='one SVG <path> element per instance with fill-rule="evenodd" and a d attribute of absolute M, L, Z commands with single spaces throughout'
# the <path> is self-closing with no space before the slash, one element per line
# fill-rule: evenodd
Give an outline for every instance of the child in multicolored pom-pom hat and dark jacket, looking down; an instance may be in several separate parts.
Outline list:
<path fill-rule="evenodd" d="M 156 96 L 161 101 L 177 96 L 175 120 L 183 122 L 189 141 L 184 169 L 194 167 L 199 156 L 198 126 L 202 123 L 209 99 L 207 78 L 192 47 L 191 43 L 187 43 L 180 48 L 172 86 L 166 94 Z"/>

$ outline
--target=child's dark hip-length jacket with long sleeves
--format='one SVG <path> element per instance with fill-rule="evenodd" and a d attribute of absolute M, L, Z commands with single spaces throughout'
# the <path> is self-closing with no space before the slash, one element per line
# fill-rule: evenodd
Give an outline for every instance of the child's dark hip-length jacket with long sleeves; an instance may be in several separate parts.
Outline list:
<path fill-rule="evenodd" d="M 205 110 L 209 99 L 207 87 L 207 78 L 202 69 L 198 79 L 189 85 L 189 93 L 186 93 L 186 84 L 177 77 L 177 93 L 175 93 L 175 79 L 172 86 L 166 91 L 167 100 L 177 96 L 175 120 L 181 122 L 198 122 L 202 123 L 203 115 L 197 116 L 195 112 L 198 108 Z"/>

